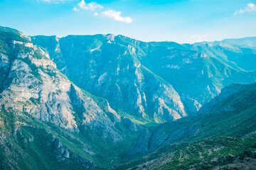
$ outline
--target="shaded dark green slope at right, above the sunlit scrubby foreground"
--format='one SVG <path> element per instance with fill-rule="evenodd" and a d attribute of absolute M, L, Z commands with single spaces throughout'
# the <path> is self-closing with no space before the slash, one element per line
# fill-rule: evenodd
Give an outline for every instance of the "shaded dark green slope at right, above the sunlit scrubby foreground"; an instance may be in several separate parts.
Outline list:
<path fill-rule="evenodd" d="M 240 84 L 233 84 L 232 86 L 235 85 L 242 86 Z M 247 135 L 255 135 L 256 84 L 251 84 L 250 87 L 245 85 L 242 89 L 215 103 L 214 107 L 206 113 L 144 130 L 139 135 L 133 149 L 131 149 L 131 154 L 152 152 L 170 145 L 169 149 L 159 149 L 151 154 L 151 156 L 149 155 L 149 157 L 119 166 L 119 168 L 131 168 L 137 164 L 149 162 L 152 159 L 156 159 L 155 162 L 159 162 L 157 159 L 161 155 L 175 152 L 177 148 L 193 145 L 194 142 L 204 141 L 211 137 L 245 137 Z M 255 143 L 251 143 L 251 145 L 255 145 Z M 221 156 L 225 156 L 225 154 Z M 166 159 L 170 160 L 170 157 Z M 166 160 L 162 159 L 161 161 L 166 162 Z M 155 164 L 155 166 L 157 165 Z"/>

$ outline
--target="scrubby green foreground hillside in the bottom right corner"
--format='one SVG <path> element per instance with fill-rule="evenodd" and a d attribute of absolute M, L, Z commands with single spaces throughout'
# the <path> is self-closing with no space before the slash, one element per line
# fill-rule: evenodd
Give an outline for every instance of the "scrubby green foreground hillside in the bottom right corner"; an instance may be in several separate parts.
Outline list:
<path fill-rule="evenodd" d="M 256 137 L 216 137 L 178 149 L 168 163 L 156 169 L 241 169 L 256 162 Z"/>

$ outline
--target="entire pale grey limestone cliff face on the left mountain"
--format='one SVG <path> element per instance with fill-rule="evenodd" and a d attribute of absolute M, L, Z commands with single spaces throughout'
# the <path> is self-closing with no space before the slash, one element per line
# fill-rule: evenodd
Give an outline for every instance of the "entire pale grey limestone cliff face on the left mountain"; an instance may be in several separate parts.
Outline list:
<path fill-rule="evenodd" d="M 40 47 L 26 42 L 11 42 L 14 57 L 1 54 L 4 75 L 1 109 L 16 114 L 28 113 L 43 122 L 53 123 L 70 132 L 81 127 L 100 130 L 99 135 L 114 142 L 122 140 L 112 118 L 120 121 L 108 103 L 100 108 L 95 101 L 70 82 L 49 60 Z M 26 51 L 26 52 L 24 52 Z"/>

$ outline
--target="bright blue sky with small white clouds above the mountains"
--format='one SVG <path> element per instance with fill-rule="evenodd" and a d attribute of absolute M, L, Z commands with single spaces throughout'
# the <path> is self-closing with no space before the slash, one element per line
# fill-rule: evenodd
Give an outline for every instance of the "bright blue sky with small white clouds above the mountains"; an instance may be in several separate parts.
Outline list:
<path fill-rule="evenodd" d="M 198 42 L 256 36 L 256 0 L 0 0 L 0 26 L 26 35 L 125 35 Z"/>

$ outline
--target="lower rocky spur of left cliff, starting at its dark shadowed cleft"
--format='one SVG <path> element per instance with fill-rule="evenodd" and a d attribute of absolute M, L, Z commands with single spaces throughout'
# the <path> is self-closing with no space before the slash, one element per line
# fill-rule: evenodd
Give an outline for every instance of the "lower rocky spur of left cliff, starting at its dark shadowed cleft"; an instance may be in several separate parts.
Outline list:
<path fill-rule="evenodd" d="M 107 103 L 104 110 L 97 106 L 97 103 L 92 98 L 82 94 L 80 90 L 76 90 L 73 84 L 70 86 L 70 100 L 74 110 L 78 113 L 81 119 L 83 128 L 94 130 L 96 134 L 103 138 L 111 139 L 113 142 L 122 140 L 122 136 L 116 132 L 114 123 L 120 121 L 112 108 Z M 111 117 L 109 117 L 107 114 Z M 115 120 L 112 122 L 112 120 Z"/>

